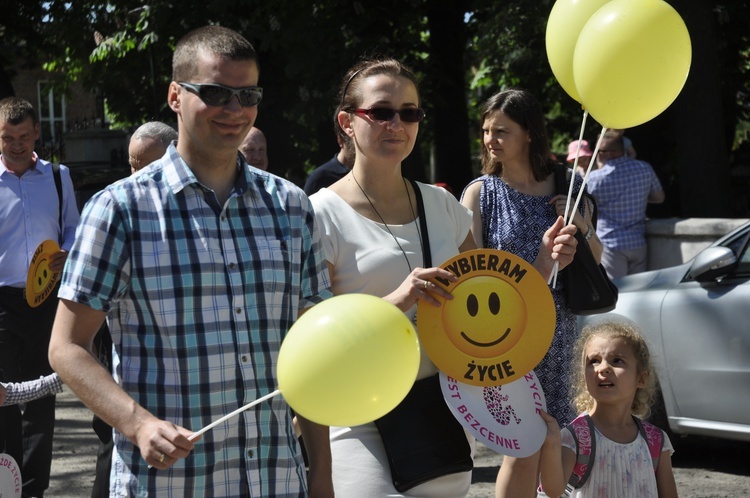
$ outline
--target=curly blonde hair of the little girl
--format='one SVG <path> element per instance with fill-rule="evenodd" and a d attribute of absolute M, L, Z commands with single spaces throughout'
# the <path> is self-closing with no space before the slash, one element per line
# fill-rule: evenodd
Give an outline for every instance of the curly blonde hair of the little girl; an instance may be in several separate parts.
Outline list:
<path fill-rule="evenodd" d="M 656 395 L 656 372 L 651 361 L 648 344 L 641 335 L 640 329 L 633 323 L 605 321 L 586 325 L 581 336 L 576 341 L 573 358 L 578 358 L 578 368 L 571 370 L 571 390 L 573 406 L 578 412 L 591 411 L 594 408 L 594 398 L 586 389 L 586 346 L 594 337 L 606 339 L 622 339 L 631 348 L 637 362 L 638 373 L 646 372 L 646 384 L 638 388 L 630 407 L 630 413 L 646 418 L 651 411 L 651 403 Z"/>

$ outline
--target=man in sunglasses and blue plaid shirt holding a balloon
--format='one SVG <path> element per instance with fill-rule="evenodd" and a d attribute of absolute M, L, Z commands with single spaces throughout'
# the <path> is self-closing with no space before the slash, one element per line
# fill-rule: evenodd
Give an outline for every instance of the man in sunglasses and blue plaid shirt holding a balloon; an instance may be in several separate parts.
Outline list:
<path fill-rule="evenodd" d="M 258 114 L 257 54 L 205 26 L 178 41 L 167 103 L 179 138 L 86 205 L 60 287 L 50 362 L 114 427 L 111 496 L 330 497 L 327 429 L 275 397 L 289 328 L 331 296 L 309 199 L 238 147 Z M 114 375 L 92 341 L 107 318 Z"/>

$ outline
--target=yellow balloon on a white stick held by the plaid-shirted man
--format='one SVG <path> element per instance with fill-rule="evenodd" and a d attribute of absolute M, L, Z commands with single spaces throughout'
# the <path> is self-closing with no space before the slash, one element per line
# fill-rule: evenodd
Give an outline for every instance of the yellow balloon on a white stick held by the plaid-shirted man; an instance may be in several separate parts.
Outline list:
<path fill-rule="evenodd" d="M 360 425 L 393 410 L 419 368 L 414 326 L 396 306 L 343 294 L 313 306 L 289 329 L 276 374 L 295 412 L 323 425 Z"/>

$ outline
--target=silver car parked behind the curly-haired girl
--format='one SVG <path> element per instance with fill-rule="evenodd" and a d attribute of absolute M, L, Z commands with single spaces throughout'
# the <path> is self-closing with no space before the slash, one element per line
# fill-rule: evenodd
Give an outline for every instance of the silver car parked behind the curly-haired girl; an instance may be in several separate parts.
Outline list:
<path fill-rule="evenodd" d="M 615 279 L 617 307 L 579 317 L 641 327 L 663 401 L 652 420 L 675 434 L 750 441 L 749 242 L 750 222 L 685 264 Z"/>

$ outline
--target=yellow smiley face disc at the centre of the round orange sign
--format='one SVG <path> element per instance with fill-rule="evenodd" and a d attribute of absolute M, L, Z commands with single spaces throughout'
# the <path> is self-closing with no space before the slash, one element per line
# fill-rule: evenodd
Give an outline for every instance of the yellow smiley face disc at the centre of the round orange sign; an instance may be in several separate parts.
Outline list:
<path fill-rule="evenodd" d="M 461 352 L 477 358 L 503 355 L 526 328 L 526 304 L 507 282 L 475 276 L 453 289 L 443 306 L 445 334 Z"/>

